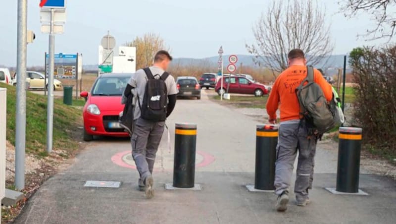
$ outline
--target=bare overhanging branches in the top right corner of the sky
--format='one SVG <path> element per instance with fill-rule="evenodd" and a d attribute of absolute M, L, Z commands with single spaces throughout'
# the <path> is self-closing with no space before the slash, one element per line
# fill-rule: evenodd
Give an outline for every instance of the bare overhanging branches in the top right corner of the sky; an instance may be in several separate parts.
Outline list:
<path fill-rule="evenodd" d="M 339 2 L 346 17 L 356 16 L 359 12 L 372 14 L 374 29 L 367 29 L 364 36 L 369 40 L 392 39 L 396 35 L 396 0 L 342 0 Z"/>

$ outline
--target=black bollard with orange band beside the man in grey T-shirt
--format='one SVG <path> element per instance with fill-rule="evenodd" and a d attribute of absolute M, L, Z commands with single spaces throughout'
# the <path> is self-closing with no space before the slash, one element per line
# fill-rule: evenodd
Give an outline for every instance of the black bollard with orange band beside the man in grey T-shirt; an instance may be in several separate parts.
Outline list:
<path fill-rule="evenodd" d="M 194 187 L 196 145 L 197 124 L 176 124 L 173 187 Z"/>

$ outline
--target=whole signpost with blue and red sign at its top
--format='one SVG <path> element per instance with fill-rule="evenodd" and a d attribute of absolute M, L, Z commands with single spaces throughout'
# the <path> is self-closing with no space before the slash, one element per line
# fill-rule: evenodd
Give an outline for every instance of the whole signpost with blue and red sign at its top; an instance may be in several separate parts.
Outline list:
<path fill-rule="evenodd" d="M 55 33 L 63 33 L 63 24 L 66 22 L 66 0 L 41 0 L 40 20 L 42 32 L 49 33 L 49 75 L 48 75 L 48 107 L 47 107 L 47 153 L 52 152 L 53 133 L 53 79 Z"/>

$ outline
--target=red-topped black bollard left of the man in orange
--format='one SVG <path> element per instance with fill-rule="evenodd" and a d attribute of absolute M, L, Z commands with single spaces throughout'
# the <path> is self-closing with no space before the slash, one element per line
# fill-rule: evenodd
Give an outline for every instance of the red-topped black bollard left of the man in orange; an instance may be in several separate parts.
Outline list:
<path fill-rule="evenodd" d="M 276 145 L 278 144 L 278 126 L 267 124 L 256 128 L 256 167 L 254 188 L 274 190 Z"/>

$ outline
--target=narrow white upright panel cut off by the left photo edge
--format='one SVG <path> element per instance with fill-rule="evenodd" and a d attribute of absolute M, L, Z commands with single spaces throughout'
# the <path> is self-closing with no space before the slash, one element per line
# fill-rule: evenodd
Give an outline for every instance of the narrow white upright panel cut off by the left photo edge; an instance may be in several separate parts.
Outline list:
<path fill-rule="evenodd" d="M 7 89 L 0 88 L 0 201 L 5 196 L 5 131 Z M 1 222 L 1 221 L 0 221 Z"/>

